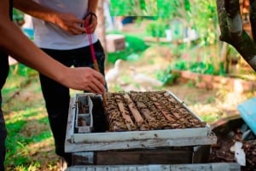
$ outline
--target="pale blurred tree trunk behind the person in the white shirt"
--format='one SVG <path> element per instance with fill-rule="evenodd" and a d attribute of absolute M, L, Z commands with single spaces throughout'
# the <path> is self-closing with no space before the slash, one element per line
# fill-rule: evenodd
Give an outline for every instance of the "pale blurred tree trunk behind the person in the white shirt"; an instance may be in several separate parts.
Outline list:
<path fill-rule="evenodd" d="M 99 37 L 99 40 L 102 43 L 102 47 L 104 48 L 106 61 L 108 59 L 107 53 L 107 43 L 106 43 L 106 28 L 105 28 L 105 16 L 104 16 L 104 0 L 98 0 L 98 7 L 96 10 L 98 25 L 96 28 L 96 35 Z"/>

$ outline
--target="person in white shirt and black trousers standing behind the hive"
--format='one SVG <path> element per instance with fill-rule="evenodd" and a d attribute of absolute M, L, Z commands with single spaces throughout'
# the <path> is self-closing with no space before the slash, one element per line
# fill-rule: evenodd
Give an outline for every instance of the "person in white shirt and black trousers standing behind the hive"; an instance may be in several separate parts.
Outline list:
<path fill-rule="evenodd" d="M 97 0 L 35 0 L 38 4 L 26 4 L 15 0 L 15 8 L 32 15 L 34 42 L 55 60 L 65 66 L 90 66 L 90 37 L 96 51 L 99 70 L 104 76 L 105 54 L 96 37 Z M 32 10 L 33 8 L 33 10 Z M 50 17 L 49 17 L 50 16 Z M 69 88 L 39 74 L 49 125 L 55 140 L 55 153 L 64 157 L 69 166 L 71 154 L 65 152 L 67 117 L 70 100 Z M 107 83 L 105 84 L 107 88 Z"/>

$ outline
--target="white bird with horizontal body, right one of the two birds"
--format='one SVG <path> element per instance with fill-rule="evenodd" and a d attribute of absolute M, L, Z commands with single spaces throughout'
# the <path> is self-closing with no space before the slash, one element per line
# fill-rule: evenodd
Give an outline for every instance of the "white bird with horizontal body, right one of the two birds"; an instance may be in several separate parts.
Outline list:
<path fill-rule="evenodd" d="M 143 73 L 137 73 L 134 67 L 130 67 L 130 70 L 132 71 L 132 80 L 144 88 L 161 87 L 164 85 L 164 83 L 153 77 L 148 77 Z"/>

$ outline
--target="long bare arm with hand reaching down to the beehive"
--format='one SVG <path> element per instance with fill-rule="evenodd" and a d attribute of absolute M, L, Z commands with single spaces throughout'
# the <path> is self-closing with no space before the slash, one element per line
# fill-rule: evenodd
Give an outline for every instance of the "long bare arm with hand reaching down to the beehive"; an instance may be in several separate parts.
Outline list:
<path fill-rule="evenodd" d="M 9 20 L 8 9 L 9 1 L 1 0 L 0 48 L 12 55 L 16 60 L 69 88 L 88 90 L 98 94 L 104 93 L 102 74 L 90 68 L 69 68 L 63 66 L 47 54 L 44 54 Z"/>

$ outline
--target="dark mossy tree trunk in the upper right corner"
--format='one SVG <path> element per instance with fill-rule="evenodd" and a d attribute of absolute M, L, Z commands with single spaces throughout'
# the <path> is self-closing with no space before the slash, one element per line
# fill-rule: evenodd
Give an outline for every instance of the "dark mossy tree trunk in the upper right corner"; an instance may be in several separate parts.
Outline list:
<path fill-rule="evenodd" d="M 239 0 L 216 0 L 219 39 L 232 45 L 256 71 L 256 44 L 242 28 Z"/>

